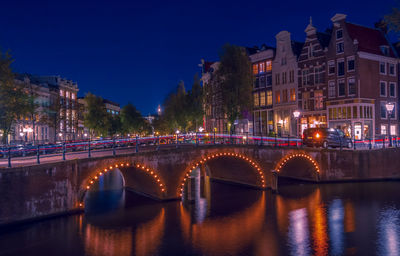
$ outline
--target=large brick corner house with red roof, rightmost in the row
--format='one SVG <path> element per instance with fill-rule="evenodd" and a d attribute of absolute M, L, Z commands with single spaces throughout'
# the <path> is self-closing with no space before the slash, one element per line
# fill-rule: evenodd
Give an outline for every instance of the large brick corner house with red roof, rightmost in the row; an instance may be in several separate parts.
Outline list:
<path fill-rule="evenodd" d="M 383 31 L 332 19 L 327 51 L 329 127 L 354 139 L 398 135 L 397 53 Z M 394 103 L 389 127 L 386 103 Z"/>

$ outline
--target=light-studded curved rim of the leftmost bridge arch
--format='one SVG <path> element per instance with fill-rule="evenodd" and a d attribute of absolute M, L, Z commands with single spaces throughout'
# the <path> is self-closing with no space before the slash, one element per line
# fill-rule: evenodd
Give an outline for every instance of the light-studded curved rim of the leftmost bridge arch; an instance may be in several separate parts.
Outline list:
<path fill-rule="evenodd" d="M 96 169 L 95 171 L 91 172 L 91 174 L 82 182 L 79 193 L 80 194 L 78 202 L 79 207 L 80 208 L 84 207 L 84 199 L 87 191 L 99 181 L 100 176 L 106 174 L 107 172 L 120 170 L 123 178 L 123 186 L 124 187 L 128 186 L 129 184 L 126 183 L 125 175 L 128 173 L 129 168 L 134 168 L 136 170 L 142 171 L 143 173 L 146 173 L 149 177 L 152 178 L 153 183 L 159 188 L 160 194 L 164 195 L 166 193 L 167 190 L 166 185 L 163 182 L 162 178 L 160 177 L 158 171 L 142 163 L 118 162 L 115 164 L 106 165 L 103 168 Z"/>

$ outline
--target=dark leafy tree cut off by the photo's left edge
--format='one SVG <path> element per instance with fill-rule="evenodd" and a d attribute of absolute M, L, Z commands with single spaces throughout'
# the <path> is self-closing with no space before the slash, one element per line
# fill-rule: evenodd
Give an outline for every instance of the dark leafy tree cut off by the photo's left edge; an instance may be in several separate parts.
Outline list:
<path fill-rule="evenodd" d="M 8 135 L 15 120 L 24 117 L 29 107 L 23 86 L 15 82 L 12 62 L 8 52 L 0 52 L 0 130 L 3 131 L 4 144 L 8 143 Z"/>

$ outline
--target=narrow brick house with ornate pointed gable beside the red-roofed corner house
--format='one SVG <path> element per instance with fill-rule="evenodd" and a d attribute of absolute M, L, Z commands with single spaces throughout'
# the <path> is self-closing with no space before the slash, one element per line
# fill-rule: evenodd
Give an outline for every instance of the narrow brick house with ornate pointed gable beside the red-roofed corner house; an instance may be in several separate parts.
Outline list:
<path fill-rule="evenodd" d="M 304 129 L 327 127 L 326 51 L 330 33 L 321 33 L 310 23 L 305 29 L 306 40 L 298 59 L 298 104 L 300 134 Z"/>

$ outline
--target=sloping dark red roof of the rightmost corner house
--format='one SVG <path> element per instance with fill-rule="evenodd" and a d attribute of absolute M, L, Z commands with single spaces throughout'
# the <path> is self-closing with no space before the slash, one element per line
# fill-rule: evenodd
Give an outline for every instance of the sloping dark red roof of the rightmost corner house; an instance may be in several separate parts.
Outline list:
<path fill-rule="evenodd" d="M 382 31 L 349 22 L 345 24 L 351 39 L 357 39 L 359 51 L 385 56 L 381 50 L 381 46 L 388 46 L 389 52 L 387 56 L 392 58 L 396 57 L 392 45 Z"/>

